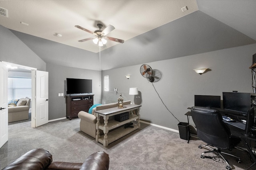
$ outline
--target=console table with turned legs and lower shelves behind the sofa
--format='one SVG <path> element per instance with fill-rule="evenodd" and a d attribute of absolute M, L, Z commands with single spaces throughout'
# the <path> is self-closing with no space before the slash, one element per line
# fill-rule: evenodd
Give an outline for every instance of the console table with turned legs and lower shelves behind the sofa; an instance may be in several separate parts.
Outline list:
<path fill-rule="evenodd" d="M 108 109 L 102 109 L 95 111 L 96 117 L 97 117 L 97 123 L 96 123 L 96 142 L 100 142 L 103 144 L 104 147 L 107 147 L 108 144 L 116 141 L 117 139 L 120 139 L 121 137 L 124 137 L 125 135 L 131 133 L 132 131 L 135 131 L 136 129 L 140 128 L 140 107 L 141 105 L 135 105 L 135 104 L 129 104 L 125 105 L 124 108 L 117 108 L 112 107 Z M 137 112 L 137 114 L 133 114 L 132 111 Z M 120 113 L 124 112 L 130 112 L 129 113 L 129 119 L 125 121 L 115 121 L 110 120 L 108 121 L 108 118 L 110 116 L 118 115 Z M 100 123 L 100 116 L 103 117 L 104 123 Z M 129 123 L 131 121 L 137 120 L 137 124 L 133 124 L 133 127 L 124 128 L 124 124 Z M 119 128 L 117 128 L 119 127 Z M 116 129 L 115 129 L 116 128 Z M 100 135 L 101 129 L 104 132 L 104 135 Z M 110 131 L 114 129 L 113 131 Z M 109 132 L 110 131 L 110 132 Z"/>

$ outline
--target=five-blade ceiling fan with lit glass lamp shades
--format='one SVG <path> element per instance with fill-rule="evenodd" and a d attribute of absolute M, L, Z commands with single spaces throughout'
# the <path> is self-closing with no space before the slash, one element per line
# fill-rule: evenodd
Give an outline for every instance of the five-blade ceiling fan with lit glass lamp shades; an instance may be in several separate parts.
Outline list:
<path fill-rule="evenodd" d="M 108 25 L 105 29 L 101 29 L 103 27 L 103 25 L 101 23 L 98 23 L 97 24 L 97 27 L 99 28 L 98 30 L 95 30 L 94 32 L 88 30 L 88 29 L 85 29 L 84 27 L 81 27 L 79 25 L 75 25 L 75 27 L 79 28 L 79 29 L 82 29 L 88 33 L 91 33 L 93 35 L 95 35 L 95 37 L 90 37 L 90 38 L 86 38 L 86 39 L 81 39 L 79 40 L 79 42 L 84 42 L 84 41 L 88 41 L 88 40 L 91 40 L 95 43 L 95 44 L 98 44 L 99 46 L 103 46 L 107 43 L 107 40 L 110 40 L 110 41 L 116 41 L 118 43 L 124 43 L 124 40 L 122 39 L 117 39 L 117 38 L 113 38 L 113 37 L 106 37 L 106 35 L 108 33 L 110 33 L 111 31 L 113 31 L 115 29 L 114 26 L 112 25 Z"/>

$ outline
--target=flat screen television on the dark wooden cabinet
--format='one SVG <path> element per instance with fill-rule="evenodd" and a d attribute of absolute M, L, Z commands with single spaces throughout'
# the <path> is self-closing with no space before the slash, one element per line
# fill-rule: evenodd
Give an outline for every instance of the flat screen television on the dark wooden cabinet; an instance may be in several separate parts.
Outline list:
<path fill-rule="evenodd" d="M 67 94 L 84 94 L 92 93 L 92 80 L 66 78 Z"/>

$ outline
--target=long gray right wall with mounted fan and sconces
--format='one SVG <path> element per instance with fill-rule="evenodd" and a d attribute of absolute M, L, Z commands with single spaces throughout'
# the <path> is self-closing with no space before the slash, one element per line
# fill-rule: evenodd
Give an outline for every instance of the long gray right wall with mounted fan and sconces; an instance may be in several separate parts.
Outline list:
<path fill-rule="evenodd" d="M 151 51 L 148 51 L 148 54 L 150 53 Z M 109 75 L 110 91 L 102 90 L 102 103 L 117 102 L 119 93 L 122 93 L 124 100 L 133 100 L 128 94 L 129 88 L 137 87 L 141 93 L 139 99 L 142 102 L 138 102 L 142 104 L 141 119 L 178 130 L 178 120 L 187 122 L 184 114 L 189 111 L 188 107 L 194 105 L 195 94 L 217 95 L 222 98 L 222 92 L 232 92 L 232 90 L 253 93 L 249 66 L 252 64 L 254 53 L 256 53 L 256 44 L 145 63 L 155 70 L 154 86 L 140 74 L 141 64 L 105 70 L 102 77 Z M 209 70 L 200 75 L 193 70 L 196 68 L 209 68 Z M 127 74 L 131 75 L 130 79 L 125 78 Z M 162 104 L 154 87 L 178 120 Z M 113 91 L 114 88 L 118 88 L 118 94 Z"/>

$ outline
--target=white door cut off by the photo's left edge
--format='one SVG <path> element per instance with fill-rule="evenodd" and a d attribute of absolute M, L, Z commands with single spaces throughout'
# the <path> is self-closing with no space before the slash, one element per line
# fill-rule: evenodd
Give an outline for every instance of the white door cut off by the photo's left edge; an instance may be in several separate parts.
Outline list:
<path fill-rule="evenodd" d="M 0 62 L 0 148 L 8 141 L 8 69 Z"/>

